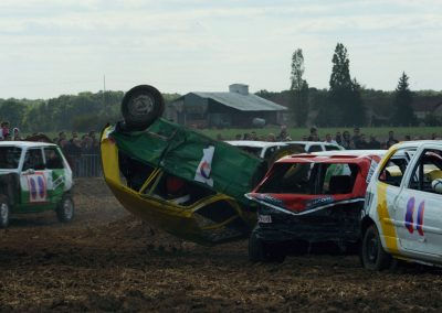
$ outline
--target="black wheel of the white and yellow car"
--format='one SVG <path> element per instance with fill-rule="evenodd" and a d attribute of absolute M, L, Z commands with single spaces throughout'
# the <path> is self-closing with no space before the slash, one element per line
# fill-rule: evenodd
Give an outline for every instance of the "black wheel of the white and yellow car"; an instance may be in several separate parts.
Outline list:
<path fill-rule="evenodd" d="M 368 270 L 380 271 L 391 263 L 391 256 L 383 250 L 376 225 L 368 227 L 364 234 L 360 257 L 362 266 Z"/>

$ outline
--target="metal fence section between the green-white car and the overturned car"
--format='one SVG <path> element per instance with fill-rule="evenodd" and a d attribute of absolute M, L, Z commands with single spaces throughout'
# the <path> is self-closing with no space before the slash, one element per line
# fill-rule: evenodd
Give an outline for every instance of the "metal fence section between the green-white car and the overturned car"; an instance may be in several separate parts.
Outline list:
<path fill-rule="evenodd" d="M 99 154 L 66 155 L 74 177 L 102 176 L 102 160 Z"/>

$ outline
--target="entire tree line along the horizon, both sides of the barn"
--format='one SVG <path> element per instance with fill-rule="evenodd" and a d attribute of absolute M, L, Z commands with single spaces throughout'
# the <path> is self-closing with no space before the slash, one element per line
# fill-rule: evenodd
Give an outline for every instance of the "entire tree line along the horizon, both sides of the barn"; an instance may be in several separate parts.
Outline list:
<path fill-rule="evenodd" d="M 319 127 L 415 126 L 418 120 L 412 108 L 415 99 L 435 97 L 442 104 L 442 93 L 411 91 L 406 73 L 400 75 L 394 91 L 364 88 L 350 76 L 348 52 L 341 43 L 336 45 L 332 65 L 329 88 L 311 87 L 304 79 L 303 51 L 296 48 L 291 61 L 288 90 L 261 90 L 256 95 L 287 106 L 291 126 L 298 127 L 307 123 Z M 8 120 L 12 127 L 19 127 L 25 132 L 99 129 L 107 122 L 120 119 L 123 96 L 123 91 L 109 90 L 62 95 L 49 100 L 0 99 L 0 121 Z M 164 96 L 166 102 L 169 102 L 180 95 Z M 376 110 L 377 115 L 368 110 Z M 432 115 L 424 122 L 428 126 L 442 125 Z"/>

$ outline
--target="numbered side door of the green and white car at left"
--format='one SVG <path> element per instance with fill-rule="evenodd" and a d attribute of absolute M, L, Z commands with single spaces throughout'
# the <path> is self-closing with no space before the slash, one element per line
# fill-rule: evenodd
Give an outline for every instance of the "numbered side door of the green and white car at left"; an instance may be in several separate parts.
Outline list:
<path fill-rule="evenodd" d="M 42 149 L 28 149 L 20 177 L 21 203 L 24 211 L 39 211 L 49 204 L 48 176 Z"/>

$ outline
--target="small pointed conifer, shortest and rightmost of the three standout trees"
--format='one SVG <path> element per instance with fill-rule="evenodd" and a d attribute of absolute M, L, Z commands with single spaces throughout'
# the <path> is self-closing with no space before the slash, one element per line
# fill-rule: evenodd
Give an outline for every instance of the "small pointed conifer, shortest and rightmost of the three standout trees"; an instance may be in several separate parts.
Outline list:
<path fill-rule="evenodd" d="M 412 126 L 417 123 L 411 104 L 413 95 L 408 83 L 409 77 L 403 72 L 399 78 L 398 87 L 394 93 L 392 122 L 394 126 Z"/>

